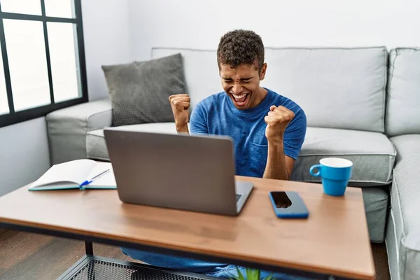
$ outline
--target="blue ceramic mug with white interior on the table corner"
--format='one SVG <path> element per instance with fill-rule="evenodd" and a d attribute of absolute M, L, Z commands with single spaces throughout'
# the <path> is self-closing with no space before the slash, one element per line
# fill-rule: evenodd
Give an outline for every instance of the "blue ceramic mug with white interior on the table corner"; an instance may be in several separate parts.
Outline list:
<path fill-rule="evenodd" d="M 312 166 L 309 173 L 321 177 L 324 193 L 333 196 L 344 195 L 351 178 L 353 162 L 344 158 L 323 158 L 319 163 L 320 165 Z M 318 169 L 318 172 L 315 173 L 315 169 Z"/>

